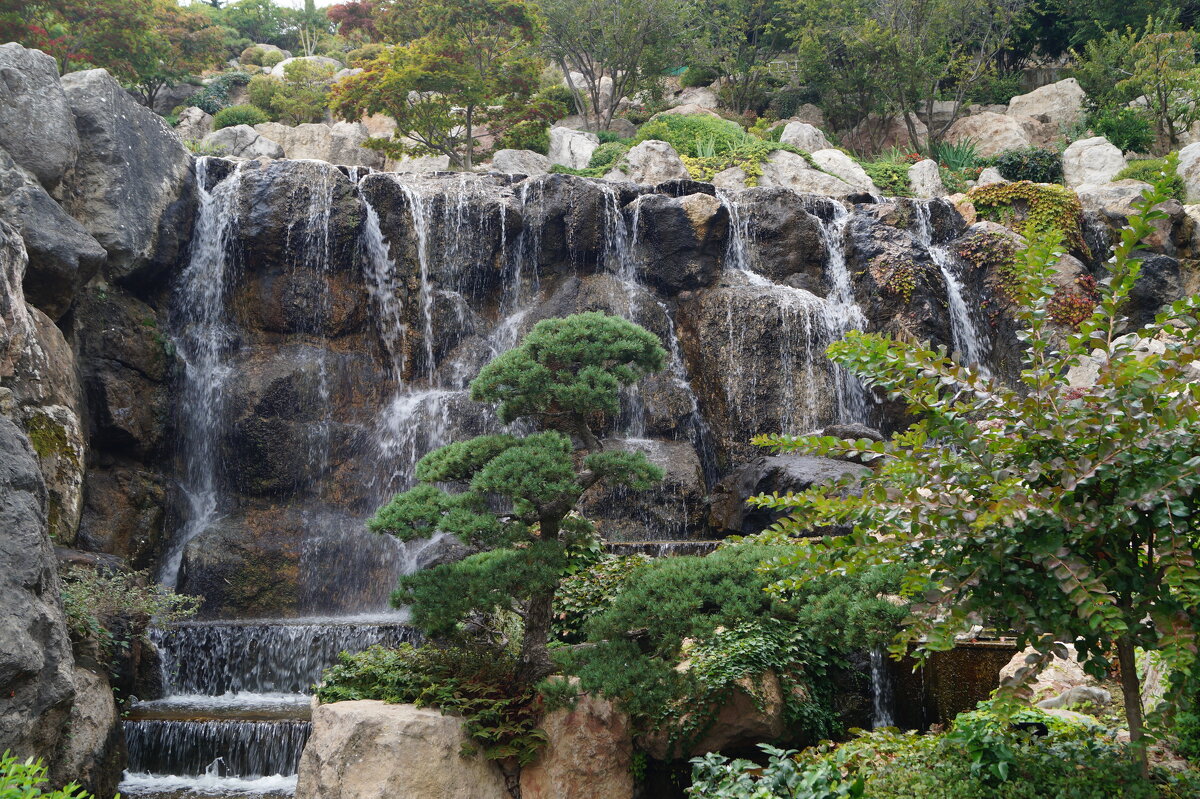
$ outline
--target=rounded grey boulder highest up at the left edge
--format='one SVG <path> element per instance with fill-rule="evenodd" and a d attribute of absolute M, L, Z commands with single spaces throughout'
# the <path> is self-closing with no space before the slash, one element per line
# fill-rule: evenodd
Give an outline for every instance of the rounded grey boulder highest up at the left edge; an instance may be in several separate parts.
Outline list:
<path fill-rule="evenodd" d="M 59 184 L 79 152 L 58 64 L 16 42 L 0 46 L 0 148 L 46 188 Z"/>

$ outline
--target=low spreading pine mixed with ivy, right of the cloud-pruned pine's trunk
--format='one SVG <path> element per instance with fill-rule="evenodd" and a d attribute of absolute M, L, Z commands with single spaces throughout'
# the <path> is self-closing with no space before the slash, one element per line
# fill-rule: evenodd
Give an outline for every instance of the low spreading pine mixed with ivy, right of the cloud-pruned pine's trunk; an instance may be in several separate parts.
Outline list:
<path fill-rule="evenodd" d="M 620 575 L 607 605 L 584 624 L 593 645 L 563 653 L 562 665 L 581 689 L 619 701 L 674 746 L 703 734 L 724 701 L 744 690 L 739 680 L 756 685 L 768 669 L 785 686 L 793 733 L 833 734 L 826 671 L 886 641 L 905 611 L 882 599 L 896 588 L 883 572 L 772 596 L 761 565 L 786 551 L 743 543 Z M 677 669 L 684 659 L 691 667 Z"/>

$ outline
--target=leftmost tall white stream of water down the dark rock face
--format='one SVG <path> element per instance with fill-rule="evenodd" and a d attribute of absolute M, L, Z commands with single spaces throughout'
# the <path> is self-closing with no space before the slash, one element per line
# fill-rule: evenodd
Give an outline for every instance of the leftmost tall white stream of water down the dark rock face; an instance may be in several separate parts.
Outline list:
<path fill-rule="evenodd" d="M 226 288 L 232 269 L 230 241 L 238 226 L 241 164 L 216 186 L 209 186 L 212 158 L 196 161 L 199 196 L 191 258 L 180 276 L 172 312 L 175 348 L 184 364 L 180 391 L 180 452 L 184 453 L 180 488 L 186 513 L 170 541 L 158 582 L 179 584 L 184 549 L 208 529 L 221 512 L 218 437 L 224 410 L 226 362 L 233 331 L 226 318 Z"/>

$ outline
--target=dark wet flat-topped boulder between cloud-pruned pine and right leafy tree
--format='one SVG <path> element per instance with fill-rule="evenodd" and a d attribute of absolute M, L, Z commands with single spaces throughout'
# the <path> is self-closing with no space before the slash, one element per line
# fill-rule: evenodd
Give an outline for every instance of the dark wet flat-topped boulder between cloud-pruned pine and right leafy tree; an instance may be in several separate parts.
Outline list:
<path fill-rule="evenodd" d="M 864 465 L 808 455 L 762 455 L 738 467 L 713 486 L 708 523 L 726 534 L 761 533 L 780 513 L 751 507 L 746 499 L 758 494 L 802 492 L 846 475 L 869 473 Z"/>

